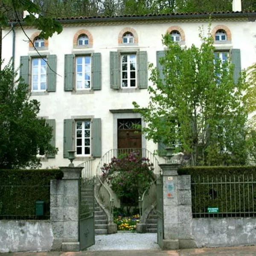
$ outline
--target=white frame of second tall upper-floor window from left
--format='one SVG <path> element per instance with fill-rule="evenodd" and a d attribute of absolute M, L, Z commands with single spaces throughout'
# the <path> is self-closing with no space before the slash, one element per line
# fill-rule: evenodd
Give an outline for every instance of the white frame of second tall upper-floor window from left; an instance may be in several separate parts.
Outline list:
<path fill-rule="evenodd" d="M 86 63 L 86 58 L 90 58 L 90 63 Z M 82 58 L 82 64 L 78 64 L 78 58 Z M 81 71 L 77 71 L 78 70 L 78 65 L 81 65 L 82 69 Z M 86 66 L 89 67 L 89 71 L 86 71 Z M 91 55 L 78 55 L 76 56 L 76 90 L 91 90 L 91 82 L 92 82 L 92 57 Z M 79 80 L 79 76 L 78 73 L 81 74 L 81 80 Z M 89 74 L 90 79 L 85 79 L 85 74 Z M 85 87 L 85 83 L 89 82 L 89 87 Z M 81 82 L 82 87 L 78 87 L 78 83 Z"/>

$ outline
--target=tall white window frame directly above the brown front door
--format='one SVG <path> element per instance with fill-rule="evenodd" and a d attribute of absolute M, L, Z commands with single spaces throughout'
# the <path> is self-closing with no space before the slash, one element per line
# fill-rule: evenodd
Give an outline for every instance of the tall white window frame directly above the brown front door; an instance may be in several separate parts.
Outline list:
<path fill-rule="evenodd" d="M 131 63 L 134 62 L 130 62 L 131 60 L 131 55 L 135 56 L 135 70 L 131 70 Z M 127 56 L 127 62 L 122 62 L 122 58 L 123 56 Z M 127 53 L 127 54 L 122 54 L 121 55 L 121 88 L 122 89 L 126 89 L 126 88 L 137 88 L 137 54 L 136 53 Z M 127 70 L 123 70 L 122 69 L 122 64 L 127 64 Z M 127 72 L 127 79 L 123 79 L 123 73 Z M 131 78 L 131 72 L 135 73 L 135 79 Z M 123 81 L 127 80 L 127 87 L 123 86 Z M 135 86 L 131 86 L 131 80 L 135 80 Z"/>

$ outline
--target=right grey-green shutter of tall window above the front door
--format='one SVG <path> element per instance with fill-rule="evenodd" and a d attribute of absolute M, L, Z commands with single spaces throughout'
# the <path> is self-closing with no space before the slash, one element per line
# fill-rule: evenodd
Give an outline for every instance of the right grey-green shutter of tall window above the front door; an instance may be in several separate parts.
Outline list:
<path fill-rule="evenodd" d="M 148 55 L 147 52 L 138 52 L 138 87 L 148 88 Z"/>

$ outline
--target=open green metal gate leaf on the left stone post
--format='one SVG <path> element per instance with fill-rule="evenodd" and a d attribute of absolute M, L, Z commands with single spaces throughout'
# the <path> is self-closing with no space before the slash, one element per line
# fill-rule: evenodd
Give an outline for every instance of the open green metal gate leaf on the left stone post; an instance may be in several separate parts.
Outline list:
<path fill-rule="evenodd" d="M 95 244 L 94 178 L 80 179 L 79 242 L 80 250 L 84 250 Z"/>

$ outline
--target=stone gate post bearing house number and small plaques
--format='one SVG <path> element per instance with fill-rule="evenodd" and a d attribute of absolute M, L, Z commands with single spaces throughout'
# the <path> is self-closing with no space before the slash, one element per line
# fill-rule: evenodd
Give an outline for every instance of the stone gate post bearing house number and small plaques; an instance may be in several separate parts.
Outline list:
<path fill-rule="evenodd" d="M 179 176 L 177 163 L 160 164 L 160 168 L 163 171 L 163 250 L 197 247 L 191 229 L 190 175 Z"/>

